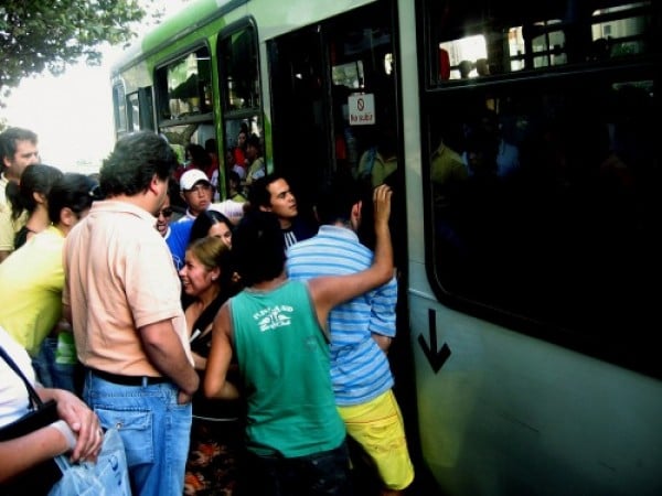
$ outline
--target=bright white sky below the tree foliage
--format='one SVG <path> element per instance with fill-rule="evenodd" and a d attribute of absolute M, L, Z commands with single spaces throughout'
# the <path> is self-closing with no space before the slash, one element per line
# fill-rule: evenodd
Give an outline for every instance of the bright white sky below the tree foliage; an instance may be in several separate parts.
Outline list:
<path fill-rule="evenodd" d="M 170 0 L 168 12 L 182 7 Z M 0 108 L 8 126 L 39 136 L 43 163 L 65 172 L 97 172 L 115 144 L 110 67 L 121 53 L 105 47 L 100 66 L 70 66 L 61 76 L 49 72 L 21 82 Z"/>

